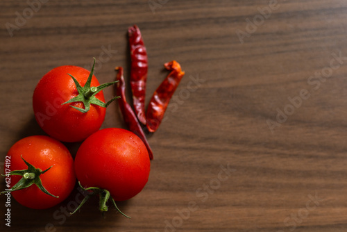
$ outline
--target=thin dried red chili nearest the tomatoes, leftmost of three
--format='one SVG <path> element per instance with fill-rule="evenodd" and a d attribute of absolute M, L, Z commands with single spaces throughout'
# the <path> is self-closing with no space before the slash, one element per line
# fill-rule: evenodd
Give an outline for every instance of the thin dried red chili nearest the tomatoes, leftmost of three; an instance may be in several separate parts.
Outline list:
<path fill-rule="evenodd" d="M 149 159 L 153 160 L 153 152 L 151 147 L 149 147 L 149 142 L 146 139 L 146 135 L 144 135 L 144 131 L 137 121 L 133 108 L 131 108 L 128 102 L 126 102 L 126 85 L 124 83 L 123 68 L 116 67 L 116 70 L 118 70 L 116 78 L 118 81 L 116 85 L 116 92 L 117 96 L 121 97 L 119 101 L 119 108 L 121 108 L 121 114 L 123 115 L 124 122 L 126 123 L 130 131 L 141 138 L 147 150 L 149 151 Z"/>

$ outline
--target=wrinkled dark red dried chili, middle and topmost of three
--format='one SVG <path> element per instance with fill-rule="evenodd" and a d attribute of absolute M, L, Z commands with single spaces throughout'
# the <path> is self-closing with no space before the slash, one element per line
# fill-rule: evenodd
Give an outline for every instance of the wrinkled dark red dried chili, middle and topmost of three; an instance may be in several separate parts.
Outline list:
<path fill-rule="evenodd" d="M 146 47 L 144 47 L 141 32 L 136 25 L 128 28 L 128 36 L 131 57 L 130 86 L 133 92 L 133 106 L 139 122 L 146 124 L 146 115 L 144 113 L 148 72 Z"/>

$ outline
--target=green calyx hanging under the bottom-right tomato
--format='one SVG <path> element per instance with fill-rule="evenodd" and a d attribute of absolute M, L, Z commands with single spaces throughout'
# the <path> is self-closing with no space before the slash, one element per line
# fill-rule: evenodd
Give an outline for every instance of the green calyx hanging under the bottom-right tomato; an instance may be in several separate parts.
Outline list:
<path fill-rule="evenodd" d="M 83 186 L 81 185 L 80 181 L 78 181 L 78 185 L 80 185 L 80 187 L 83 190 L 90 192 L 90 194 L 87 194 L 85 196 L 83 201 L 81 201 L 81 204 L 76 208 L 76 210 L 74 210 L 74 212 L 70 213 L 70 215 L 73 215 L 74 213 L 76 213 L 77 210 L 79 210 L 83 206 L 83 204 L 85 204 L 85 202 L 87 202 L 87 200 L 90 199 L 90 197 L 94 196 L 95 194 L 99 194 L 99 210 L 101 211 L 101 213 L 105 213 L 106 211 L 108 211 L 108 206 L 106 206 L 106 203 L 110 199 L 112 201 L 112 203 L 115 205 L 117 211 L 121 215 L 123 215 L 124 217 L 131 218 L 128 215 L 126 215 L 123 212 L 121 212 L 121 210 L 119 210 L 119 208 L 117 207 L 115 199 L 113 199 L 111 197 L 110 191 L 102 189 L 102 188 L 96 188 L 96 187 L 83 188 Z"/>

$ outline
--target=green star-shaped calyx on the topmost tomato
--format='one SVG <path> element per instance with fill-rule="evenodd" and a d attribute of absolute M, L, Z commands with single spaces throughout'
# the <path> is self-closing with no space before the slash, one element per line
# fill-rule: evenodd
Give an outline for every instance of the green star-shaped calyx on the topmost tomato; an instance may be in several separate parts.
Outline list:
<path fill-rule="evenodd" d="M 76 80 L 76 78 L 74 78 L 74 76 L 72 76 L 71 74 L 67 74 L 67 75 L 71 76 L 72 80 L 74 80 L 74 83 L 76 85 L 76 89 L 78 91 L 78 95 L 76 97 L 70 99 L 69 101 L 62 103 L 62 105 L 67 104 L 67 103 L 81 101 L 85 107 L 84 109 L 78 108 L 76 106 L 71 106 L 71 105 L 70 106 L 72 108 L 75 108 L 76 110 L 81 111 L 82 113 L 87 113 L 88 110 L 90 110 L 90 104 L 94 104 L 96 106 L 101 106 L 101 107 L 106 108 L 106 107 L 108 107 L 108 105 L 110 105 L 110 103 L 112 101 L 115 101 L 115 99 L 119 98 L 119 97 L 114 97 L 114 98 L 110 99 L 110 101 L 105 103 L 105 102 L 103 102 L 103 101 L 101 101 L 95 97 L 95 95 L 98 92 L 100 92 L 101 90 L 103 90 L 104 88 L 106 88 L 110 85 L 117 83 L 117 81 L 104 83 L 104 84 L 99 85 L 97 87 L 95 87 L 95 86 L 90 87 L 90 83 L 92 82 L 92 77 L 93 77 L 93 73 L 94 73 L 94 66 L 95 66 L 95 58 L 94 58 L 92 70 L 90 71 L 90 75 L 88 76 L 87 82 L 85 83 L 85 85 L 83 87 L 80 85 L 80 83 L 78 83 L 78 81 Z"/>

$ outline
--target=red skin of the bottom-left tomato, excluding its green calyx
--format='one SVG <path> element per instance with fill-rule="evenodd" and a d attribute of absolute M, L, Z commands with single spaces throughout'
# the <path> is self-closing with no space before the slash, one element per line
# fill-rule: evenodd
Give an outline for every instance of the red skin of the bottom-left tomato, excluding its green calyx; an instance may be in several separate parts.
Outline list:
<path fill-rule="evenodd" d="M 13 144 L 7 154 L 10 156 L 11 171 L 28 168 L 21 155 L 35 168 L 45 170 L 53 166 L 41 174 L 40 178 L 44 188 L 59 198 L 45 194 L 33 184 L 28 188 L 11 192 L 19 204 L 28 208 L 51 208 L 69 196 L 74 189 L 76 175 L 74 160 L 64 144 L 44 135 L 33 135 L 19 140 Z M 12 188 L 20 179 L 22 176 L 10 176 L 10 187 Z"/>

